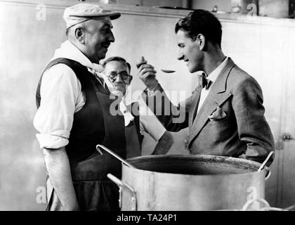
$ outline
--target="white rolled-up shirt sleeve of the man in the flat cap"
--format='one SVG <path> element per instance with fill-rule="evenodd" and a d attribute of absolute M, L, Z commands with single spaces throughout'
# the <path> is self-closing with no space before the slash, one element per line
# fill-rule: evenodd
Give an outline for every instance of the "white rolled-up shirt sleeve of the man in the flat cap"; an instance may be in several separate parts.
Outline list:
<path fill-rule="evenodd" d="M 44 72 L 40 95 L 40 107 L 34 117 L 40 148 L 66 146 L 74 113 L 84 105 L 81 83 L 67 65 L 53 65 Z"/>

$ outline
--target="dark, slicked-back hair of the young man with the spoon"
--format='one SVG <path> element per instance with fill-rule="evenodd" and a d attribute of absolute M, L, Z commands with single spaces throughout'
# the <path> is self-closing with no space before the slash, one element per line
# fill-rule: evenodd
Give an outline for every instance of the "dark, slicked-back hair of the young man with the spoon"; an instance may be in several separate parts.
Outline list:
<path fill-rule="evenodd" d="M 192 40 L 198 34 L 203 34 L 206 40 L 221 47 L 222 29 L 220 21 L 210 13 L 202 9 L 197 9 L 189 13 L 185 18 L 181 18 L 175 25 L 175 32 L 184 30 Z"/>

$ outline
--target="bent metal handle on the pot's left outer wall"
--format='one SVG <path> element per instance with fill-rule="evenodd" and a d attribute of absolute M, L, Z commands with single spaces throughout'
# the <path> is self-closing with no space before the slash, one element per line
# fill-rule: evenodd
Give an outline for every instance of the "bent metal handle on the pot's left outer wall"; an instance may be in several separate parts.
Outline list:
<path fill-rule="evenodd" d="M 122 188 L 124 188 L 131 193 L 131 211 L 136 211 L 136 192 L 134 189 L 112 174 L 107 174 L 107 177 L 119 186 L 119 207 L 122 208 Z"/>

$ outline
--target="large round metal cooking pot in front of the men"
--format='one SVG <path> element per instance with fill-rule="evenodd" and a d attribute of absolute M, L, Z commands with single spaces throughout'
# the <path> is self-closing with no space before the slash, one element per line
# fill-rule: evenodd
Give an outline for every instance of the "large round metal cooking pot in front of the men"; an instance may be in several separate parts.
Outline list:
<path fill-rule="evenodd" d="M 123 211 L 242 209 L 249 199 L 265 197 L 268 172 L 258 162 L 213 155 L 150 155 L 126 161 L 122 180 L 108 175 L 120 187 Z"/>

